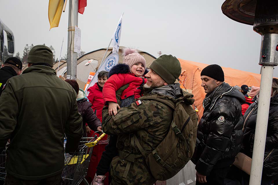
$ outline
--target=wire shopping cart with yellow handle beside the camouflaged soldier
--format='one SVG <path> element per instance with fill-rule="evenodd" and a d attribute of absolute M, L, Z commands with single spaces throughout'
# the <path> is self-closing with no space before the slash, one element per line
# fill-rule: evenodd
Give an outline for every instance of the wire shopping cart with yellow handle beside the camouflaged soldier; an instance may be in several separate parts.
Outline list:
<path fill-rule="evenodd" d="M 65 153 L 65 168 L 62 173 L 63 184 L 78 185 L 83 181 L 85 185 L 89 185 L 85 176 L 87 175 L 92 150 L 98 141 L 105 136 L 103 133 L 97 137 L 96 133 L 91 138 L 81 138 L 79 150 L 75 153 Z"/>

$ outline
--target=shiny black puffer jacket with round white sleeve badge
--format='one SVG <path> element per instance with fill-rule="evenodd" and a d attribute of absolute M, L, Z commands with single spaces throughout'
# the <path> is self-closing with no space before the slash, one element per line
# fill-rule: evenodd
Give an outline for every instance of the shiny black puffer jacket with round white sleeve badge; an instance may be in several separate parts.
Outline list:
<path fill-rule="evenodd" d="M 244 102 L 242 93 L 225 82 L 206 95 L 192 160 L 197 172 L 209 175 L 213 168 L 233 164 L 242 140 Z"/>

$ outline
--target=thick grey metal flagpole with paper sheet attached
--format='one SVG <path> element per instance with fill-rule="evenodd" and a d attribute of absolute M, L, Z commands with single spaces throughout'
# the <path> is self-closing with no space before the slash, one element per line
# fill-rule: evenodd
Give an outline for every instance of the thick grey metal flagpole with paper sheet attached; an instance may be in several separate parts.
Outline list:
<path fill-rule="evenodd" d="M 69 0 L 69 27 L 67 37 L 67 79 L 77 77 L 77 53 L 74 51 L 74 27 L 78 26 L 78 0 Z"/>

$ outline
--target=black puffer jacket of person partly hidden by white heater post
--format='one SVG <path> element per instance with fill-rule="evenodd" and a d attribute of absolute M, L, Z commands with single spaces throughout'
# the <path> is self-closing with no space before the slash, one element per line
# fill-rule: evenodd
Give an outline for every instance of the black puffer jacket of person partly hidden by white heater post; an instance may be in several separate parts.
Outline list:
<path fill-rule="evenodd" d="M 246 119 L 246 122 L 243 131 L 241 152 L 245 153 L 250 158 L 252 158 L 253 155 L 257 110 L 258 110 L 258 104 L 257 102 L 255 102 L 249 106 L 249 108 L 246 110 L 246 113 L 244 114 L 244 120 Z M 268 156 L 269 153 L 270 155 Z M 263 177 L 271 178 L 271 180 L 277 179 L 278 178 L 278 95 L 275 95 L 270 99 L 264 159 L 265 161 L 263 167 Z"/>

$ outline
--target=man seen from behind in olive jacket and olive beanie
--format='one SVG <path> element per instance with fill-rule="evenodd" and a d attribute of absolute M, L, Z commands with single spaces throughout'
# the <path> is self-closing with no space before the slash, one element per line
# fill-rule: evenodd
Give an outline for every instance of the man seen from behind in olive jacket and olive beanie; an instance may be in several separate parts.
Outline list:
<path fill-rule="evenodd" d="M 64 168 L 64 134 L 66 152 L 75 151 L 82 137 L 76 92 L 52 67 L 50 48 L 34 46 L 28 68 L 8 79 L 0 97 L 0 148 L 11 141 L 6 185 L 58 185 Z"/>

